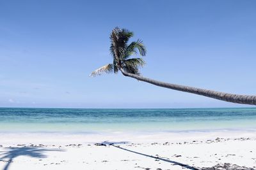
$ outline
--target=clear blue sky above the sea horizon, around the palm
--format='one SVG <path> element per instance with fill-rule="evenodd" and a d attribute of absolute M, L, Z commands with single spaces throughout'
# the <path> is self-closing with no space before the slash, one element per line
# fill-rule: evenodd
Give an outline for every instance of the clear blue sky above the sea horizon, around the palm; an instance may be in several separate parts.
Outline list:
<path fill-rule="evenodd" d="M 233 107 L 122 74 L 112 62 L 119 26 L 147 46 L 141 73 L 156 80 L 256 94 L 256 1 L 0 1 L 0 106 Z"/>

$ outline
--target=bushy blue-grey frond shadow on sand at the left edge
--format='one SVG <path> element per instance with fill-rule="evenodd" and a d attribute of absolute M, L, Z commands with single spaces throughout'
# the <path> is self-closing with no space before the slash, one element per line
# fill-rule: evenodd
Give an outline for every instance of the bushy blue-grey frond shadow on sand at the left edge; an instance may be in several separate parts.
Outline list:
<path fill-rule="evenodd" d="M 34 158 L 46 158 L 47 155 L 44 152 L 49 151 L 58 151 L 63 152 L 63 150 L 57 149 L 45 149 L 45 148 L 38 148 L 38 147 L 10 147 L 6 148 L 6 151 L 0 153 L 2 157 L 0 157 L 0 161 L 7 162 L 6 166 L 4 166 L 3 170 L 8 170 L 10 167 L 10 163 L 13 162 L 13 159 L 19 156 L 28 156 Z"/>

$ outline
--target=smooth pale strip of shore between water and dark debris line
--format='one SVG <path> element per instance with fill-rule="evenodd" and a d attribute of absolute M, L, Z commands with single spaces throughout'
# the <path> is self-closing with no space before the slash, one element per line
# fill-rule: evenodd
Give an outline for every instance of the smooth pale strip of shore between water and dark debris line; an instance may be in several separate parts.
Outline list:
<path fill-rule="evenodd" d="M 126 141 L 127 143 L 184 142 L 216 138 L 256 139 L 256 129 L 216 129 L 201 131 L 90 131 L 90 132 L 0 132 L 0 145 L 45 145 L 69 143 L 102 143 Z"/>

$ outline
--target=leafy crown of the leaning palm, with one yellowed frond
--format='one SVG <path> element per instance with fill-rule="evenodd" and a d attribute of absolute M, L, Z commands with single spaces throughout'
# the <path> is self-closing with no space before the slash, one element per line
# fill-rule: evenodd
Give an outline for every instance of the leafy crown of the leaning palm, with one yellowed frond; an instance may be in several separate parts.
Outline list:
<path fill-rule="evenodd" d="M 141 58 L 130 57 L 137 53 L 145 56 L 146 48 L 140 39 L 129 44 L 128 41 L 132 36 L 133 32 L 115 27 L 110 34 L 111 45 L 109 49 L 113 56 L 113 64 L 106 64 L 96 69 L 90 76 L 97 76 L 102 73 L 117 73 L 120 69 L 123 69 L 125 73 L 140 75 L 139 67 L 143 67 L 145 61 Z"/>

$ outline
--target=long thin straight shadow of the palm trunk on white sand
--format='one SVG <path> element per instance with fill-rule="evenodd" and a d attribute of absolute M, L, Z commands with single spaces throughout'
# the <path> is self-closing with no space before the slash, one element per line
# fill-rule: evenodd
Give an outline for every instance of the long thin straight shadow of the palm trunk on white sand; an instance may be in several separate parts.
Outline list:
<path fill-rule="evenodd" d="M 147 155 L 147 154 L 145 154 L 145 153 L 135 152 L 135 151 L 132 151 L 132 150 L 128 150 L 128 149 L 122 148 L 122 147 L 120 147 L 120 146 L 115 146 L 115 145 L 111 145 L 111 146 L 114 146 L 114 147 L 116 147 L 116 148 L 119 148 L 119 149 L 121 149 L 121 150 L 125 150 L 125 151 L 128 151 L 128 152 L 132 152 L 132 153 L 136 153 L 136 154 L 139 154 L 139 155 L 143 155 L 143 156 L 145 156 L 145 157 L 150 157 L 150 158 L 154 158 L 154 159 L 158 159 L 158 160 L 163 160 L 164 162 L 170 162 L 170 163 L 172 163 L 172 164 L 185 167 L 185 168 L 187 168 L 187 169 L 199 170 L 199 169 L 197 169 L 196 167 L 189 166 L 189 165 L 186 165 L 186 164 L 182 164 L 182 163 L 180 163 L 180 162 L 176 162 L 176 161 L 173 161 L 173 160 L 163 159 L 163 158 L 160 158 L 160 157 L 154 157 L 154 156 L 152 156 L 152 155 Z"/>

